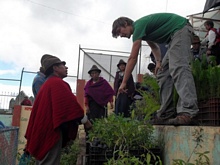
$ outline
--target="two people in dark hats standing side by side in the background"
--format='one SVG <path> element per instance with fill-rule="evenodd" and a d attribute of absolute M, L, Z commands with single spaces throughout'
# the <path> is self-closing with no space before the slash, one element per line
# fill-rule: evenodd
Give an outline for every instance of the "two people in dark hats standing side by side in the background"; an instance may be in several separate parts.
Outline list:
<path fill-rule="evenodd" d="M 91 121 L 95 119 L 107 117 L 108 108 L 107 104 L 110 103 L 110 108 L 113 109 L 113 102 L 115 96 L 115 109 L 116 115 L 123 115 L 124 117 L 130 116 L 130 106 L 133 102 L 133 95 L 135 92 L 135 84 L 133 76 L 130 75 L 126 84 L 126 93 L 118 93 L 118 88 L 122 83 L 126 62 L 122 59 L 117 64 L 118 71 L 114 79 L 114 87 L 100 76 L 101 70 L 93 65 L 88 71 L 91 79 L 85 85 L 85 107 L 88 117 Z"/>

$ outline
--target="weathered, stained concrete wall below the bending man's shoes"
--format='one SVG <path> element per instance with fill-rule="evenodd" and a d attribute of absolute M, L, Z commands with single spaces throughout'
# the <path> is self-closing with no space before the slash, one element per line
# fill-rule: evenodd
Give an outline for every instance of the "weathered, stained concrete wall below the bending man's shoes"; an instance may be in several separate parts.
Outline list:
<path fill-rule="evenodd" d="M 201 138 L 198 138 L 201 135 Z M 220 127 L 211 126 L 155 126 L 155 137 L 163 146 L 164 165 L 171 165 L 173 159 L 187 161 L 193 151 L 207 154 L 211 165 L 220 164 Z M 201 140 L 199 145 L 196 140 Z M 196 147 L 197 146 L 197 147 Z M 190 163 L 196 164 L 198 155 L 192 154 Z"/>

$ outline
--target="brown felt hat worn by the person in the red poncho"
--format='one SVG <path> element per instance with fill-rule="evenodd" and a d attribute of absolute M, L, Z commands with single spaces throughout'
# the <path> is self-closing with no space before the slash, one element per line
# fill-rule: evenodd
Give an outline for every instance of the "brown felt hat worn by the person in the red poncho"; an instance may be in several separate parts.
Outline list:
<path fill-rule="evenodd" d="M 65 61 L 61 61 L 58 57 L 52 56 L 52 55 L 43 55 L 45 56 L 44 58 L 42 57 L 42 67 L 44 68 L 45 72 L 53 65 L 55 64 L 64 64 L 66 65 Z"/>

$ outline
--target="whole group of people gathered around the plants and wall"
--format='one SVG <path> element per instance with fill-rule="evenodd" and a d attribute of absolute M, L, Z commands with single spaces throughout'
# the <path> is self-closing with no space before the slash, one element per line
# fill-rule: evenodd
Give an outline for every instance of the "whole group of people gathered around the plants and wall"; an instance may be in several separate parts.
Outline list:
<path fill-rule="evenodd" d="M 211 36 L 212 32 L 208 33 Z M 172 13 L 151 14 L 136 21 L 119 17 L 113 22 L 112 36 L 132 36 L 131 54 L 127 62 L 118 62 L 114 88 L 100 76 L 101 70 L 96 65 L 88 71 L 91 79 L 84 88 L 87 115 L 69 84 L 63 81 L 67 77 L 66 62 L 52 55 L 42 56 L 38 73 L 42 82 L 33 83 L 36 88 L 33 89 L 35 102 L 25 134 L 26 150 L 36 158 L 37 164 L 59 164 L 61 147 L 76 137 L 78 125 L 85 124 L 85 128 L 90 129 L 90 120 L 107 117 L 107 104 L 110 102 L 113 108 L 113 96 L 116 98 L 115 113 L 129 116 L 129 106 L 135 92 L 132 71 L 142 41 L 146 41 L 152 50 L 154 67 L 151 71 L 160 87 L 161 106 L 150 122 L 189 125 L 197 115 L 199 109 L 190 68 L 190 49 L 191 44 L 200 44 L 200 41 L 193 41 L 193 27 L 186 18 Z M 211 45 L 210 42 L 208 45 Z M 207 54 L 210 53 L 209 48 L 212 47 L 208 47 Z M 176 106 L 173 104 L 174 88 L 179 95 Z"/>

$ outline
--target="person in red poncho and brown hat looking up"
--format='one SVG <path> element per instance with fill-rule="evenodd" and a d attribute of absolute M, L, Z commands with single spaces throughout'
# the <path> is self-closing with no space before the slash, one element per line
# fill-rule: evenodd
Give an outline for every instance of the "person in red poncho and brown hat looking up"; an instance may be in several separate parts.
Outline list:
<path fill-rule="evenodd" d="M 46 81 L 35 99 L 25 133 L 25 150 L 36 164 L 60 164 L 61 148 L 76 138 L 78 125 L 92 125 L 76 96 L 63 78 L 67 77 L 66 62 L 47 55 L 42 61 Z"/>

